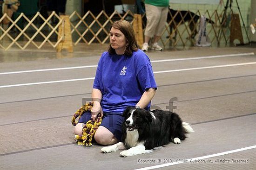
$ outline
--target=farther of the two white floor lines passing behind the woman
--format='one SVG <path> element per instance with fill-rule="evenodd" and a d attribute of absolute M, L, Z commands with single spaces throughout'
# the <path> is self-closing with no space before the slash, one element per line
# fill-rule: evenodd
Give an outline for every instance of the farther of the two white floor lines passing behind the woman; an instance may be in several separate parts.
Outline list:
<path fill-rule="evenodd" d="M 173 62 L 173 61 L 183 61 L 183 60 L 198 60 L 198 59 L 218 58 L 218 57 L 249 56 L 249 55 L 254 55 L 254 52 L 238 53 L 238 54 L 225 54 L 225 55 L 216 55 L 216 56 L 203 56 L 203 57 L 174 58 L 174 59 L 166 59 L 166 60 L 152 60 L 151 63 Z M 0 75 L 18 74 L 18 73 L 31 73 L 31 72 L 40 72 L 40 71 L 56 71 L 56 70 L 65 70 L 65 69 L 84 69 L 84 68 L 94 68 L 94 67 L 97 67 L 97 65 L 2 72 L 2 73 L 0 73 Z"/>

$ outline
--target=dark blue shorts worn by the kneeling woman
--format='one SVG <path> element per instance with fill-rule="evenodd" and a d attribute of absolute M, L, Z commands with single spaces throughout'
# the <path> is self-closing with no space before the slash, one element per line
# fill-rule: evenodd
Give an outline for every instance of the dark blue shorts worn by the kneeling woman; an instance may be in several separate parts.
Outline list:
<path fill-rule="evenodd" d="M 78 123 L 85 123 L 91 120 L 91 113 L 86 112 L 79 119 Z M 100 126 L 106 127 L 110 132 L 112 132 L 116 139 L 119 141 L 122 137 L 122 123 L 124 117 L 122 113 L 103 113 L 103 118 Z"/>

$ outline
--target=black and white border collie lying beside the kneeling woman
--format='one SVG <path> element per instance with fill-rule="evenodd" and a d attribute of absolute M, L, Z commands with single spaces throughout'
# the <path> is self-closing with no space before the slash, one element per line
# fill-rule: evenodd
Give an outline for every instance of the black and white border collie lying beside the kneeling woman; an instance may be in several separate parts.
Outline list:
<path fill-rule="evenodd" d="M 128 150 L 121 151 L 121 157 L 150 153 L 155 147 L 170 142 L 180 144 L 186 138 L 185 133 L 194 132 L 190 124 L 182 122 L 178 114 L 169 111 L 127 107 L 123 116 L 121 142 L 101 148 L 102 153 L 124 149 Z"/>

